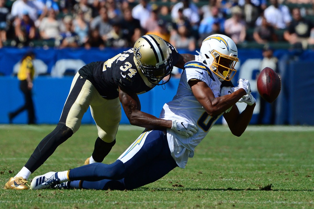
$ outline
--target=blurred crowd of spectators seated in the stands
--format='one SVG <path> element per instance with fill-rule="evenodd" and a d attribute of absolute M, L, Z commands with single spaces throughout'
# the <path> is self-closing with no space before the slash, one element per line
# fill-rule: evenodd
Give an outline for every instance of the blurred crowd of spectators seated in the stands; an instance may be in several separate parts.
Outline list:
<path fill-rule="evenodd" d="M 133 47 L 156 34 L 196 50 L 211 34 L 240 46 L 314 44 L 314 0 L 0 0 L 0 47 Z"/>

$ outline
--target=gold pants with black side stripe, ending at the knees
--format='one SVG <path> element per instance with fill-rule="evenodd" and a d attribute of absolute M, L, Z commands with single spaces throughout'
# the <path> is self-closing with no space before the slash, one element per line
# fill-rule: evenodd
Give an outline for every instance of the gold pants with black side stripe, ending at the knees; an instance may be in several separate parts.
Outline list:
<path fill-rule="evenodd" d="M 58 124 L 66 125 L 75 133 L 88 107 L 97 125 L 99 138 L 107 143 L 114 141 L 121 120 L 119 98 L 101 97 L 95 86 L 77 73 Z"/>

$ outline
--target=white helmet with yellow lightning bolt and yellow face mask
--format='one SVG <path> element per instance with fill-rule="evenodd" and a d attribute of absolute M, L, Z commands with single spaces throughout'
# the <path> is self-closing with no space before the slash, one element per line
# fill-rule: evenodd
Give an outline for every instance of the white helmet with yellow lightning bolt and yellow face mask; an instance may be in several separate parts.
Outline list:
<path fill-rule="evenodd" d="M 203 40 L 199 55 L 202 57 L 203 63 L 218 76 L 219 80 L 230 81 L 236 74 L 234 66 L 239 61 L 238 50 L 235 42 L 228 36 L 222 34 L 208 36 Z M 230 60 L 229 68 L 219 63 L 222 57 Z M 220 73 L 218 66 L 225 68 L 225 71 Z"/>

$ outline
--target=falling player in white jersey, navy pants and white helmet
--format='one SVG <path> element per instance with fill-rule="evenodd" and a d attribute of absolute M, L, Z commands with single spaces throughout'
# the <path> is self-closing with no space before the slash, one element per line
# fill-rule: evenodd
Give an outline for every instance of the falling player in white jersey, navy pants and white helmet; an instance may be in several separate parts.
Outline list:
<path fill-rule="evenodd" d="M 197 133 L 184 137 L 170 128 L 147 129 L 114 163 L 49 172 L 36 176 L 30 188 L 65 185 L 130 190 L 154 182 L 176 167 L 184 168 L 195 147 L 222 115 L 231 133 L 241 136 L 251 120 L 255 99 L 248 80 L 240 79 L 237 87 L 230 82 L 237 61 L 236 44 L 225 35 L 215 34 L 203 41 L 197 59 L 185 64 L 176 96 L 164 105 L 160 118 L 196 124 Z M 247 103 L 243 112 L 236 102 Z"/>

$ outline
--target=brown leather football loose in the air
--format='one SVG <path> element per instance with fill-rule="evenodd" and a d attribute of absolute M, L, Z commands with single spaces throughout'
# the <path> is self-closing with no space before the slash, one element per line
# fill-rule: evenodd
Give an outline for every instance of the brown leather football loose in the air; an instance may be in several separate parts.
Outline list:
<path fill-rule="evenodd" d="M 257 77 L 257 91 L 269 103 L 276 100 L 281 90 L 278 74 L 270 67 L 265 67 Z"/>

